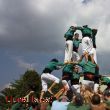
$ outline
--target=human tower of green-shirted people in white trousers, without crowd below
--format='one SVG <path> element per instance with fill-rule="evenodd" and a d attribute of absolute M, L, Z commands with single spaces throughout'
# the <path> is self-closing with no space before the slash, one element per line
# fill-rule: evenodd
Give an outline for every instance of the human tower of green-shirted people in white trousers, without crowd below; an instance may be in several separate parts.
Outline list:
<path fill-rule="evenodd" d="M 77 30 L 81 31 L 82 39 L 79 39 Z M 101 85 L 106 85 L 106 90 L 110 89 L 110 79 L 99 74 L 96 55 L 96 34 L 97 29 L 92 29 L 88 25 L 71 26 L 68 29 L 64 34 L 64 62 L 59 62 L 56 58 L 51 59 L 41 74 L 42 90 L 40 102 L 42 102 L 44 94 L 48 91 L 56 99 L 61 96 L 68 96 L 70 92 L 72 96 L 80 94 L 83 96 L 85 103 L 90 103 L 94 94 L 98 94 L 102 98 L 104 92 L 100 89 Z M 81 43 L 82 55 L 79 55 Z M 54 70 L 59 69 L 62 69 L 61 80 L 51 74 Z M 83 80 L 80 82 L 80 77 L 82 76 Z M 49 88 L 48 81 L 52 82 Z M 52 89 L 60 82 L 63 87 L 56 94 L 53 94 Z"/>

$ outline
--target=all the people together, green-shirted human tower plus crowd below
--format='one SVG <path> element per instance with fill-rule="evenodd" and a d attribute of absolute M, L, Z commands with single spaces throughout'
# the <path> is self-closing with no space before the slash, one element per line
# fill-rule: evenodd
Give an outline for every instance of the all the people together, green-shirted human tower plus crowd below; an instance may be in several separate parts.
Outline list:
<path fill-rule="evenodd" d="M 82 39 L 79 39 L 80 30 Z M 42 90 L 39 102 L 32 104 L 29 110 L 109 110 L 110 109 L 110 79 L 99 73 L 96 55 L 97 29 L 88 25 L 71 26 L 65 33 L 65 58 L 59 62 L 53 58 L 41 74 Z M 82 44 L 82 55 L 79 46 Z M 61 80 L 51 73 L 62 69 Z M 82 82 L 80 77 L 83 76 Z M 52 85 L 48 88 L 48 81 Z M 54 94 L 52 89 L 56 84 L 63 87 Z M 104 91 L 100 86 L 107 85 Z M 51 102 L 42 103 L 46 92 L 52 96 Z M 12 109 L 14 110 L 14 109 Z"/>

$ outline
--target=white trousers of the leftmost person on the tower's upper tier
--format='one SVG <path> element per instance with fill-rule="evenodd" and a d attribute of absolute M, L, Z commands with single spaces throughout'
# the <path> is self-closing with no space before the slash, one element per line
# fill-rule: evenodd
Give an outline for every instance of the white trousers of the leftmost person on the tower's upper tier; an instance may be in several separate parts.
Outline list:
<path fill-rule="evenodd" d="M 72 60 L 73 41 L 67 40 L 65 43 L 65 58 L 64 62 L 70 62 Z"/>

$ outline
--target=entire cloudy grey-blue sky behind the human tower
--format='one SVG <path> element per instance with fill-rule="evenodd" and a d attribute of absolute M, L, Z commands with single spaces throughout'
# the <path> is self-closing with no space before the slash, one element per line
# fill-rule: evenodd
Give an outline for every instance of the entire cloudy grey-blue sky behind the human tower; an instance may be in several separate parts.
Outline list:
<path fill-rule="evenodd" d="M 63 62 L 64 34 L 72 25 L 98 29 L 100 73 L 110 74 L 109 4 L 110 0 L 0 0 L 0 88 L 28 68 L 41 74 L 52 58 Z M 53 74 L 60 76 L 61 71 Z"/>

